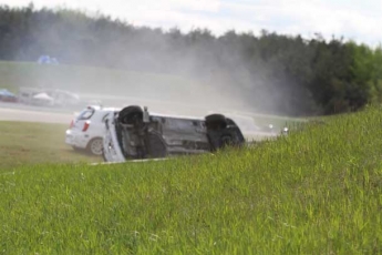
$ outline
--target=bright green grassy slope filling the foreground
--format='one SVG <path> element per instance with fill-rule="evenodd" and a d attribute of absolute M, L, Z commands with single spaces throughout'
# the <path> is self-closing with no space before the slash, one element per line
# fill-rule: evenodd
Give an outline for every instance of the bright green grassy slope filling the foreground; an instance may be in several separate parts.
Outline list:
<path fill-rule="evenodd" d="M 381 126 L 378 108 L 215 155 L 19 166 L 1 253 L 381 254 Z"/>

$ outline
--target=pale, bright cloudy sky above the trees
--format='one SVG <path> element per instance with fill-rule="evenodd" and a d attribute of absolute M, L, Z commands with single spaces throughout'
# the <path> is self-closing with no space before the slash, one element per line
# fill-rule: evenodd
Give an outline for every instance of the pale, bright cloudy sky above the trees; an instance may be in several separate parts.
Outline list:
<path fill-rule="evenodd" d="M 31 0 L 0 0 L 10 7 Z M 381 0 L 33 0 L 37 9 L 71 8 L 89 14 L 97 11 L 134 26 L 178 28 L 187 32 L 209 29 L 215 35 L 228 30 L 262 29 L 282 34 L 316 33 L 330 39 L 343 37 L 375 47 L 382 42 Z"/>

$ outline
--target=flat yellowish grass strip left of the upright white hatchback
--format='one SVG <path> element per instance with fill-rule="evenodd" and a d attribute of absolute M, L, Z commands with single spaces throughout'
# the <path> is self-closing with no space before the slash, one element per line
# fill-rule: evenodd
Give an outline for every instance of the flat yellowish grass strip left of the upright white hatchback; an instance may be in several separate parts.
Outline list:
<path fill-rule="evenodd" d="M 39 163 L 99 162 L 64 143 L 63 124 L 0 122 L 0 173 Z"/>

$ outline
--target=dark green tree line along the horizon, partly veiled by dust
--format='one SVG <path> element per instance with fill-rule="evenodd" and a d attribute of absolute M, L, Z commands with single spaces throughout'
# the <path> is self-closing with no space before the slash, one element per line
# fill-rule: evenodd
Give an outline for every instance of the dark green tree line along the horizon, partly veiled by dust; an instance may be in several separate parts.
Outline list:
<path fill-rule="evenodd" d="M 382 101 L 381 47 L 265 30 L 183 33 L 75 10 L 0 6 L 0 60 L 42 54 L 65 64 L 190 76 L 259 111 L 291 115 L 351 112 Z"/>

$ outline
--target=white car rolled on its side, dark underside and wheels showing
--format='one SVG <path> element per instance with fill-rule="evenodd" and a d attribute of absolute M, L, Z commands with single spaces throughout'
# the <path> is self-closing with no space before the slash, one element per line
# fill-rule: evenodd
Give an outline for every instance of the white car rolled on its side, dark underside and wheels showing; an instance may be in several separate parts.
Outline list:
<path fill-rule="evenodd" d="M 245 143 L 237 124 L 221 114 L 210 114 L 204 119 L 172 116 L 131 105 L 110 114 L 105 119 L 105 162 L 206 153 Z"/>

